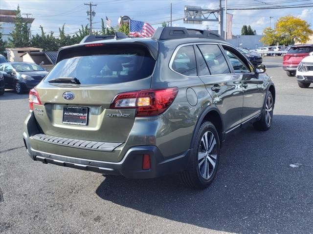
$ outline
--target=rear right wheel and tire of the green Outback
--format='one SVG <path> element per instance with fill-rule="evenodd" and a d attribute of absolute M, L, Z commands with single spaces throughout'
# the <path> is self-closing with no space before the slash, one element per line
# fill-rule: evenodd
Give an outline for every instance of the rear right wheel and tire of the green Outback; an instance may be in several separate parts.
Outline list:
<path fill-rule="evenodd" d="M 220 139 L 211 122 L 201 124 L 192 148 L 189 168 L 180 173 L 180 178 L 191 188 L 205 189 L 214 180 L 220 160 Z"/>

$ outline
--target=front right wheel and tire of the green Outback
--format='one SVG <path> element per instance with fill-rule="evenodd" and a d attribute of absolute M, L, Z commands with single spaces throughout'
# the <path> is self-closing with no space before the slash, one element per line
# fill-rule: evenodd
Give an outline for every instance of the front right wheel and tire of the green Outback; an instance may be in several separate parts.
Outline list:
<path fill-rule="evenodd" d="M 268 91 L 266 101 L 263 107 L 262 117 L 260 120 L 253 123 L 253 127 L 259 131 L 268 131 L 268 129 L 272 125 L 273 110 L 274 110 L 274 99 L 272 93 Z"/>

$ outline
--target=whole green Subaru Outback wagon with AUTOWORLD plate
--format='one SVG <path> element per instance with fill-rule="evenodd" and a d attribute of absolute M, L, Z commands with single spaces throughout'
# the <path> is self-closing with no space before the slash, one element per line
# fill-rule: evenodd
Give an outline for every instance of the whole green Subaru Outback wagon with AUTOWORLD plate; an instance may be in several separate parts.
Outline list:
<path fill-rule="evenodd" d="M 61 48 L 30 91 L 23 139 L 33 160 L 128 178 L 179 172 L 206 188 L 228 133 L 272 124 L 266 67 L 216 34 L 161 27 L 148 39 L 95 40 Z"/>

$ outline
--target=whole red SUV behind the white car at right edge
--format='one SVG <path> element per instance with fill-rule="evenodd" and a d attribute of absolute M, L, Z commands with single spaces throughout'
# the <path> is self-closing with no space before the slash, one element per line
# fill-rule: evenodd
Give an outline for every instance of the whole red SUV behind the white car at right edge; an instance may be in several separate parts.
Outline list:
<path fill-rule="evenodd" d="M 286 71 L 287 76 L 294 77 L 297 71 L 297 66 L 301 60 L 309 56 L 313 51 L 313 44 L 293 45 L 286 55 L 284 55 L 283 69 Z"/>

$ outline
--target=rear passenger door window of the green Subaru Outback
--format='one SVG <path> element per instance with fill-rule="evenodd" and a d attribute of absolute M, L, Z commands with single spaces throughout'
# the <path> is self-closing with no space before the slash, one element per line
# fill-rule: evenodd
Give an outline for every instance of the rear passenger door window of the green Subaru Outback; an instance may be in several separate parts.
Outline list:
<path fill-rule="evenodd" d="M 198 45 L 198 47 L 209 67 L 211 75 L 230 73 L 226 59 L 218 45 L 204 44 Z"/>

